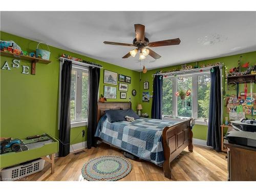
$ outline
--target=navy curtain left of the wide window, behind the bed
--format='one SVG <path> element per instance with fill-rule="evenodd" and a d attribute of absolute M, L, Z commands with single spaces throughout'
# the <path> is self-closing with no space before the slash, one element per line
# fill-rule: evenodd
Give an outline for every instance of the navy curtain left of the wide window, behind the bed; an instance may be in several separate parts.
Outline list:
<path fill-rule="evenodd" d="M 163 76 L 155 75 L 153 82 L 153 102 L 151 108 L 152 119 L 162 119 L 162 86 Z"/>

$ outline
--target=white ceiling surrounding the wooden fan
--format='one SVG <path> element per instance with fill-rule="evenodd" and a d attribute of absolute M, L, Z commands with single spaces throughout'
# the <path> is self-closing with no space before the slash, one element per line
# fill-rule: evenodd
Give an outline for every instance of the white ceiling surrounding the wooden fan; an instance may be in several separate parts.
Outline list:
<path fill-rule="evenodd" d="M 147 56 L 148 69 L 256 51 L 256 12 L 1 12 L 4 32 L 139 70 L 138 55 L 122 59 L 132 47 L 103 44 L 132 44 L 134 24 L 145 25 L 151 42 L 181 39 L 180 45 L 152 48 L 162 57 Z M 224 40 L 214 45 L 198 42 L 214 34 Z"/>

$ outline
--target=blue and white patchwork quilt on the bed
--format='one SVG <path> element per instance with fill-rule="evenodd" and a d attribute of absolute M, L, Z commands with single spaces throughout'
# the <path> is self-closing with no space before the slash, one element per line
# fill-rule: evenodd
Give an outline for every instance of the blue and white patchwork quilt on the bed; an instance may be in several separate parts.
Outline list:
<path fill-rule="evenodd" d="M 133 122 L 109 122 L 106 115 L 99 120 L 95 137 L 158 166 L 164 162 L 162 132 L 177 121 L 139 118 Z"/>

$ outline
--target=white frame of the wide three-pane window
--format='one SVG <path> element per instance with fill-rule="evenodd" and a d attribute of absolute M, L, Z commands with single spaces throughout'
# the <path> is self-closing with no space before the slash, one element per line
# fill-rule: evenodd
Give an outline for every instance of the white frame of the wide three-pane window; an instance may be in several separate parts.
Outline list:
<path fill-rule="evenodd" d="M 177 78 L 178 77 L 192 77 L 192 111 L 191 117 L 195 119 L 196 124 L 207 125 L 208 119 L 200 119 L 198 118 L 198 76 L 210 74 L 210 71 L 200 72 L 200 73 L 191 73 L 191 74 L 180 74 L 175 77 L 164 77 L 172 79 L 172 94 L 173 94 L 173 117 L 166 117 L 163 115 L 163 119 L 166 120 L 176 120 L 183 121 L 184 119 L 188 119 L 189 117 L 178 117 L 178 108 L 177 108 Z"/>

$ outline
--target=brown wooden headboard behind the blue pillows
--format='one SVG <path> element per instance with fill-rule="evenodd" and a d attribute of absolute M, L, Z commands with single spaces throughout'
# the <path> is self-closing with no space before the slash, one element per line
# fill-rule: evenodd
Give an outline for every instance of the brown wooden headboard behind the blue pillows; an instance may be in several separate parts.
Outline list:
<path fill-rule="evenodd" d="M 105 114 L 106 110 L 127 110 L 131 109 L 131 102 L 98 102 L 97 122 Z"/>

